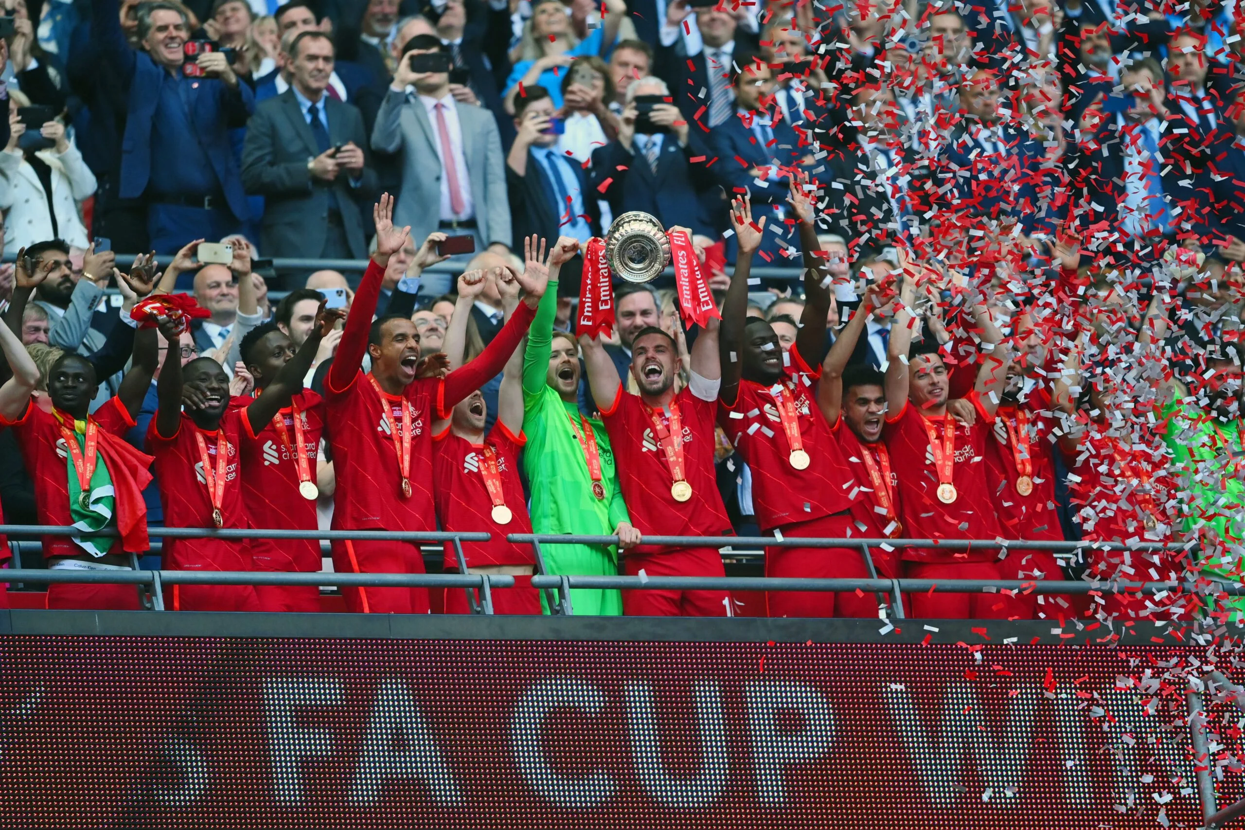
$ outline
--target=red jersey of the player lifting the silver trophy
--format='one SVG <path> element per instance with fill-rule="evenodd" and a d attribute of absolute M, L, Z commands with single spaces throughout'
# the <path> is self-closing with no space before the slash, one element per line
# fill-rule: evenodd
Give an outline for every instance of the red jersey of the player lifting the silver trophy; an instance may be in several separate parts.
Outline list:
<path fill-rule="evenodd" d="M 702 401 L 684 388 L 675 398 L 682 421 L 684 477 L 692 488 L 687 501 L 676 501 L 670 494 L 674 477 L 666 454 L 654 434 L 649 408 L 619 386 L 619 394 L 601 421 L 610 437 L 618 460 L 619 484 L 626 500 L 631 524 L 641 534 L 657 536 L 731 536 L 731 520 L 726 518 L 722 497 L 717 492 L 713 470 L 716 401 Z M 670 428 L 670 414 L 657 411 L 662 426 Z M 641 545 L 640 554 L 667 550 Z"/>

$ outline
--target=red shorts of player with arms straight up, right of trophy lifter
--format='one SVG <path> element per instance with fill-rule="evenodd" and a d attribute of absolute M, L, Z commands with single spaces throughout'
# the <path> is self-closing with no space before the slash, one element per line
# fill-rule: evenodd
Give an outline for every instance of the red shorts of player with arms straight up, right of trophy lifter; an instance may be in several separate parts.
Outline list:
<path fill-rule="evenodd" d="M 822 516 L 779 528 L 784 539 L 844 539 L 853 528 L 848 514 Z M 766 548 L 766 576 L 870 579 L 869 566 L 853 548 Z M 878 596 L 854 591 L 769 591 L 771 617 L 876 617 Z"/>

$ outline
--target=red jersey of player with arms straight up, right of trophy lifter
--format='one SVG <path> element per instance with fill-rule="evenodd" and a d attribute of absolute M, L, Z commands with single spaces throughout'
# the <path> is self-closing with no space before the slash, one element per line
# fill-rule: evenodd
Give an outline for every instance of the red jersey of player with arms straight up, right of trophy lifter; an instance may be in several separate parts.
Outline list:
<path fill-rule="evenodd" d="M 813 397 L 817 371 L 791 350 L 792 366 L 774 386 L 740 381 L 733 406 L 718 411 L 727 439 L 752 470 L 752 504 L 762 530 L 843 513 L 852 508 L 852 472 L 843 462 L 838 443 Z M 787 396 L 782 389 L 787 389 Z M 784 398 L 794 408 L 806 469 L 791 464 L 792 444 L 783 427 L 779 407 Z"/>

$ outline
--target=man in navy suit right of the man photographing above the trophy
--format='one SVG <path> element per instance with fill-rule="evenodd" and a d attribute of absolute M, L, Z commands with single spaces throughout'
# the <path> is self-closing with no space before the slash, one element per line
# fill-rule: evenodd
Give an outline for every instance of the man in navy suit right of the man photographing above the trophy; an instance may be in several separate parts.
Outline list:
<path fill-rule="evenodd" d="M 824 167 L 813 159 L 808 141 L 782 119 L 782 111 L 773 105 L 773 75 L 764 60 L 759 55 L 743 54 L 735 63 L 740 67 L 732 78 L 735 110 L 730 118 L 710 131 L 717 156 L 710 169 L 717 173 L 727 194 L 747 190 L 758 220 L 762 215 L 768 217 L 764 241 L 758 249 L 766 264 L 796 265 L 799 235 L 783 224 L 789 170 L 807 167 L 810 173 L 824 173 Z"/>

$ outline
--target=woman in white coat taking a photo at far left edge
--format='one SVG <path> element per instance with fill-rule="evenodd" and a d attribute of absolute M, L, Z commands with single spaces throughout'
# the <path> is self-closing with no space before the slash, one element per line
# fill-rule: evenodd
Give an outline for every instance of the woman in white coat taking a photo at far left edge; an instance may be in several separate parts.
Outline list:
<path fill-rule="evenodd" d="M 63 239 L 72 248 L 90 248 L 78 202 L 95 193 L 95 174 L 66 136 L 65 124 L 49 121 L 37 134 L 22 138 L 27 129 L 14 100 L 9 131 L 9 146 L 0 152 L 0 210 L 7 245 L 17 250 Z"/>

